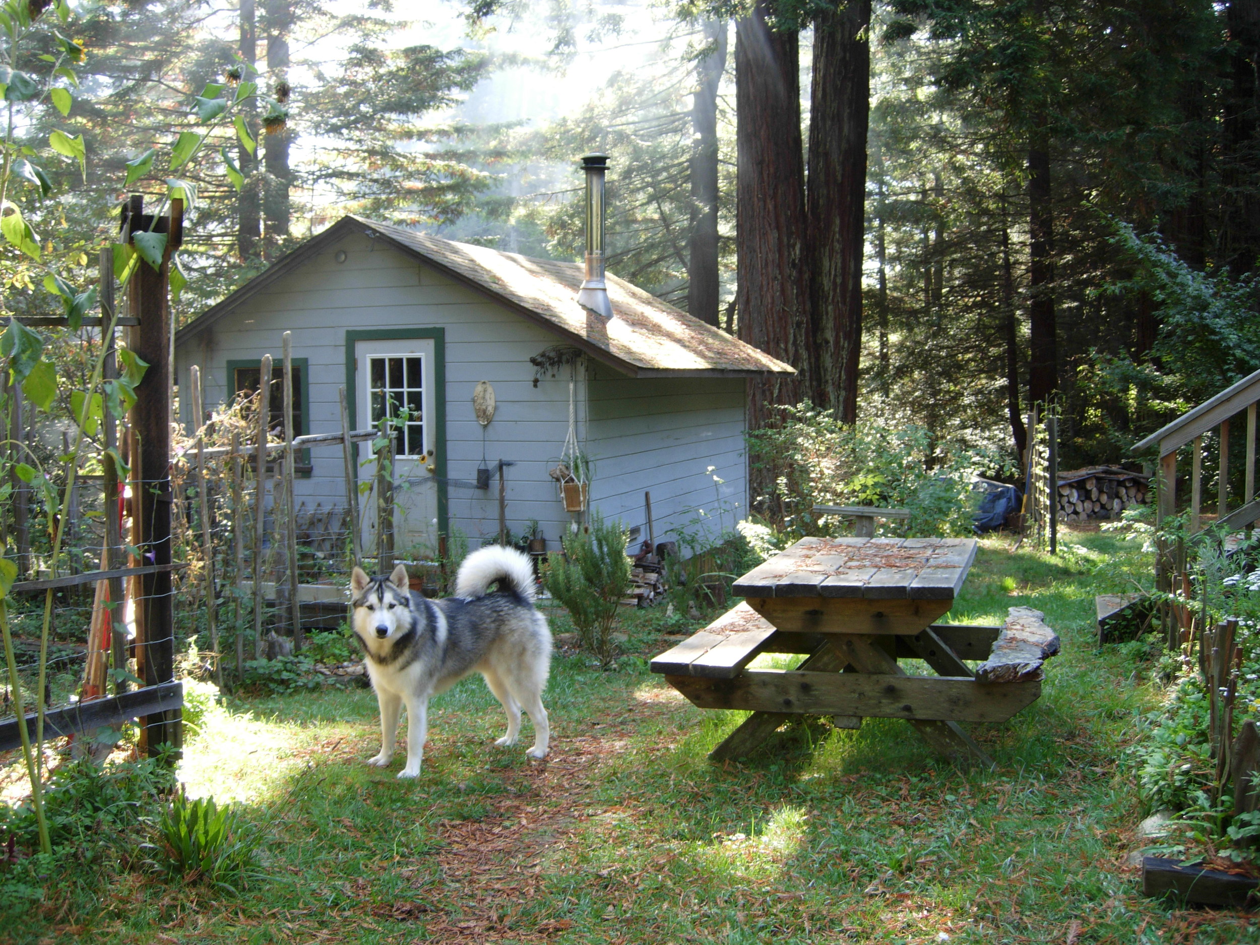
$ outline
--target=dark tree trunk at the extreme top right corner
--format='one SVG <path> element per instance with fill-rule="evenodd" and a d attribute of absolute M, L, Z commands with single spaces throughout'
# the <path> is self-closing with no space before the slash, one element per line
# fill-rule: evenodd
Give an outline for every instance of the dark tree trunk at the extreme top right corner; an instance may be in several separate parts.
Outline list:
<path fill-rule="evenodd" d="M 1231 0 L 1230 88 L 1225 96 L 1225 222 L 1221 258 L 1235 273 L 1251 272 L 1260 256 L 1260 146 L 1256 141 L 1260 66 L 1260 0 Z"/>

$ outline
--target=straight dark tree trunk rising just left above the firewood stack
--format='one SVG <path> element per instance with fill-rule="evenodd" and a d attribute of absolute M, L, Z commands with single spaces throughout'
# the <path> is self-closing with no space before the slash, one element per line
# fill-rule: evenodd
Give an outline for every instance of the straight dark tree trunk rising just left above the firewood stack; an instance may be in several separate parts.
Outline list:
<path fill-rule="evenodd" d="M 1028 402 L 1046 403 L 1058 387 L 1055 328 L 1055 217 L 1051 205 L 1050 137 L 1042 129 L 1028 144 Z"/>

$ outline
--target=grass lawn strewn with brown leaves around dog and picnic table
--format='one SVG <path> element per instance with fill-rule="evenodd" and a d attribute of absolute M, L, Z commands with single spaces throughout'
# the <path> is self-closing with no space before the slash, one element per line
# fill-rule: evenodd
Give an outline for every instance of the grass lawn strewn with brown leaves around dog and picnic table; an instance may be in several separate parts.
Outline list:
<path fill-rule="evenodd" d="M 186 746 L 194 794 L 239 799 L 268 879 L 241 896 L 125 873 L 96 942 L 1237 942 L 1240 914 L 1177 911 L 1128 864 L 1142 810 L 1123 762 L 1159 698 L 1140 645 L 1094 645 L 1095 593 L 1130 590 L 1134 544 L 1068 532 L 1051 559 L 985 541 L 951 615 L 1043 610 L 1063 651 L 1043 696 L 971 726 L 995 770 L 936 760 L 900 721 L 801 723 L 747 764 L 708 751 L 741 713 L 702 712 L 627 658 L 556 659 L 546 762 L 499 750 L 479 679 L 431 708 L 416 781 L 377 750 L 365 689 L 232 702 Z M 641 620 L 634 615 L 630 622 Z M 649 617 L 650 619 L 650 617 Z M 562 620 L 554 621 L 563 630 Z M 631 627 L 631 650 L 665 646 Z M 0 939 L 4 939 L 0 934 Z"/>

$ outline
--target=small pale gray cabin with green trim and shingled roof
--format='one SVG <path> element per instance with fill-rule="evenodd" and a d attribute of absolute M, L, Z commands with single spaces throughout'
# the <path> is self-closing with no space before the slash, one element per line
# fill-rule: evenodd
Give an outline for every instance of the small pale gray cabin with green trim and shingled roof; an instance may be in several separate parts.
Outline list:
<path fill-rule="evenodd" d="M 256 391 L 265 354 L 281 377 L 291 331 L 295 435 L 339 433 L 343 387 L 354 430 L 406 408 L 394 440 L 402 556 L 433 554 L 456 532 L 472 547 L 496 541 L 500 515 L 513 536 L 537 529 L 557 549 L 592 509 L 643 541 L 645 493 L 658 542 L 732 528 L 748 504 L 747 379 L 793 369 L 611 275 L 604 318 L 577 302 L 582 282 L 581 263 L 348 215 L 180 329 L 176 382 L 199 365 L 207 404 Z M 483 418 L 493 396 L 485 425 L 475 396 Z M 189 401 L 180 421 L 192 430 Z M 367 480 L 370 442 L 355 449 Z M 588 484 L 566 504 L 554 474 L 575 454 Z M 344 509 L 344 469 L 340 445 L 299 452 L 299 517 Z"/>

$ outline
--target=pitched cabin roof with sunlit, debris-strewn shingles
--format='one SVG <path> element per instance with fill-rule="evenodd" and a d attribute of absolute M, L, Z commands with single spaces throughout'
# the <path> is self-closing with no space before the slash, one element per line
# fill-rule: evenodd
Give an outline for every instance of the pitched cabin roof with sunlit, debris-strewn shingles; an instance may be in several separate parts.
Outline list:
<path fill-rule="evenodd" d="M 175 343 L 183 344 L 195 336 L 323 249 L 354 233 L 383 239 L 634 377 L 795 373 L 794 368 L 765 352 L 611 273 L 606 281 L 614 318 L 605 320 L 577 304 L 583 278 L 581 263 L 534 260 L 355 215 L 343 217 L 207 309 L 176 333 Z"/>

